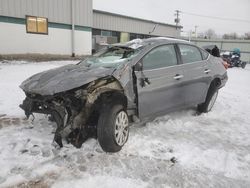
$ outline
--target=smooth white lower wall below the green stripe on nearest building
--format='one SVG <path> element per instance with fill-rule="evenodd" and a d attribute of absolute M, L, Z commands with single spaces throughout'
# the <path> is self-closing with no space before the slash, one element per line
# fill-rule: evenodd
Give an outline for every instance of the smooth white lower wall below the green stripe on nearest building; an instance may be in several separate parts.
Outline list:
<path fill-rule="evenodd" d="M 58 54 L 71 55 L 71 30 L 49 28 L 49 35 L 28 34 L 26 26 L 0 22 L 0 54 Z M 75 31 L 76 55 L 89 55 L 91 32 Z"/>

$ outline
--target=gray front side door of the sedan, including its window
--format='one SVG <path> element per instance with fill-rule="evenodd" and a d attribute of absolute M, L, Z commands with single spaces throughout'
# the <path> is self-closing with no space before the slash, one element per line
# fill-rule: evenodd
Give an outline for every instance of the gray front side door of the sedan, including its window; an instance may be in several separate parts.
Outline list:
<path fill-rule="evenodd" d="M 143 65 L 136 72 L 140 118 L 156 117 L 184 104 L 183 71 L 178 67 L 175 45 L 156 47 L 139 63 Z"/>

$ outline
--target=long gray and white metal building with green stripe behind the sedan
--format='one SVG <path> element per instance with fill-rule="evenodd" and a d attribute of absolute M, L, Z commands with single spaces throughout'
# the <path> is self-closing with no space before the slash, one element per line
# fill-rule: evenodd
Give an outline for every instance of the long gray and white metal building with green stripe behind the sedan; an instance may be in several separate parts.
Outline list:
<path fill-rule="evenodd" d="M 89 55 L 96 43 L 180 36 L 181 27 L 93 10 L 92 4 L 92 0 L 0 0 L 0 55 Z"/>

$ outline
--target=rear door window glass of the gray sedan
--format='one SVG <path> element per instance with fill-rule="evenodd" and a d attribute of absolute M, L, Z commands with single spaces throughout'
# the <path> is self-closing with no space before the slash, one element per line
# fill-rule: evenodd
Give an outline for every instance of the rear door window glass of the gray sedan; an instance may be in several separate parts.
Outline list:
<path fill-rule="evenodd" d="M 179 48 L 184 64 L 202 61 L 201 52 L 195 46 L 179 44 Z"/>

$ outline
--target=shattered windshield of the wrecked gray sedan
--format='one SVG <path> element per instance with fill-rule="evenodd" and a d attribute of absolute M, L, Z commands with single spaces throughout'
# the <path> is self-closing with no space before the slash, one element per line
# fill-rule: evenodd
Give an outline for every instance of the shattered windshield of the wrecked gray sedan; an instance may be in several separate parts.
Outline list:
<path fill-rule="evenodd" d="M 138 54 L 140 49 L 132 49 L 127 47 L 111 47 L 99 53 L 96 53 L 90 58 L 80 62 L 80 65 L 88 67 L 116 67 L 127 62 L 129 59 Z"/>

